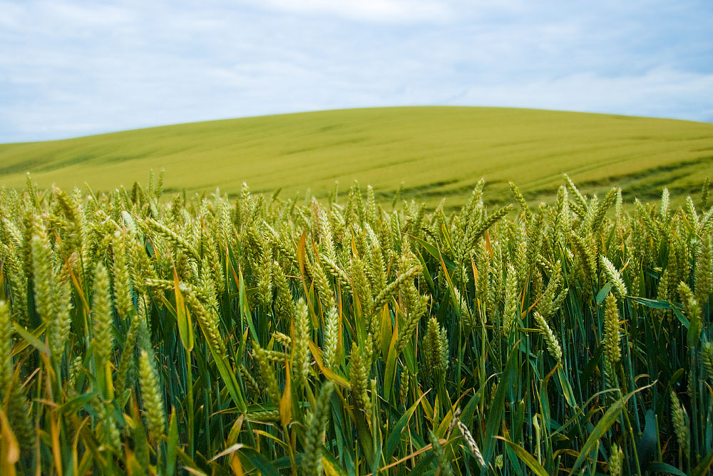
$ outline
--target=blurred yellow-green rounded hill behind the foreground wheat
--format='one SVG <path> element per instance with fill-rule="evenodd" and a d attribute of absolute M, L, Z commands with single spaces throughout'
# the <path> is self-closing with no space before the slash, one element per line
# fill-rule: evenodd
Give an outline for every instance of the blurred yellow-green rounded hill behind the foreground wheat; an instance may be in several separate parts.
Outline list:
<path fill-rule="evenodd" d="M 283 188 L 326 196 L 359 180 L 379 196 L 404 181 L 405 196 L 460 205 L 481 178 L 491 201 L 510 201 L 508 181 L 549 200 L 568 173 L 583 191 L 611 184 L 625 197 L 674 201 L 713 178 L 713 124 L 515 108 L 366 108 L 180 124 L 0 145 L 0 184 L 90 183 L 111 190 L 166 170 L 167 191 L 233 194 Z"/>

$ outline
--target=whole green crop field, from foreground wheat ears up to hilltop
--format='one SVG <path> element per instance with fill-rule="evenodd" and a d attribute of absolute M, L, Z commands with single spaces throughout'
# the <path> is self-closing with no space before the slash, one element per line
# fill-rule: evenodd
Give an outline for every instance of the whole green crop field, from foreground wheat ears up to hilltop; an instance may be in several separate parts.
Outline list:
<path fill-rule="evenodd" d="M 708 475 L 712 156 L 498 108 L 0 146 L 0 475 Z"/>

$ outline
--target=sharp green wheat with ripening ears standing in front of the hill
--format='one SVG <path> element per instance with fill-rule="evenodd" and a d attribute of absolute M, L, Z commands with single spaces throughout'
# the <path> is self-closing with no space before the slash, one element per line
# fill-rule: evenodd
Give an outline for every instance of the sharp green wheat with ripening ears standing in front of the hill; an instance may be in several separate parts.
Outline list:
<path fill-rule="evenodd" d="M 3 475 L 705 475 L 713 207 L 1 188 Z"/>

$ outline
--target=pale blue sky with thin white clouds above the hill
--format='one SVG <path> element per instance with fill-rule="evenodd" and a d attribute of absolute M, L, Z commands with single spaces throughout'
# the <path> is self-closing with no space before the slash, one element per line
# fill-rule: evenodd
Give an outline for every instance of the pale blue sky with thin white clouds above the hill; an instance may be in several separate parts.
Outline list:
<path fill-rule="evenodd" d="M 713 1 L 0 0 L 0 143 L 417 105 L 713 122 Z"/>

